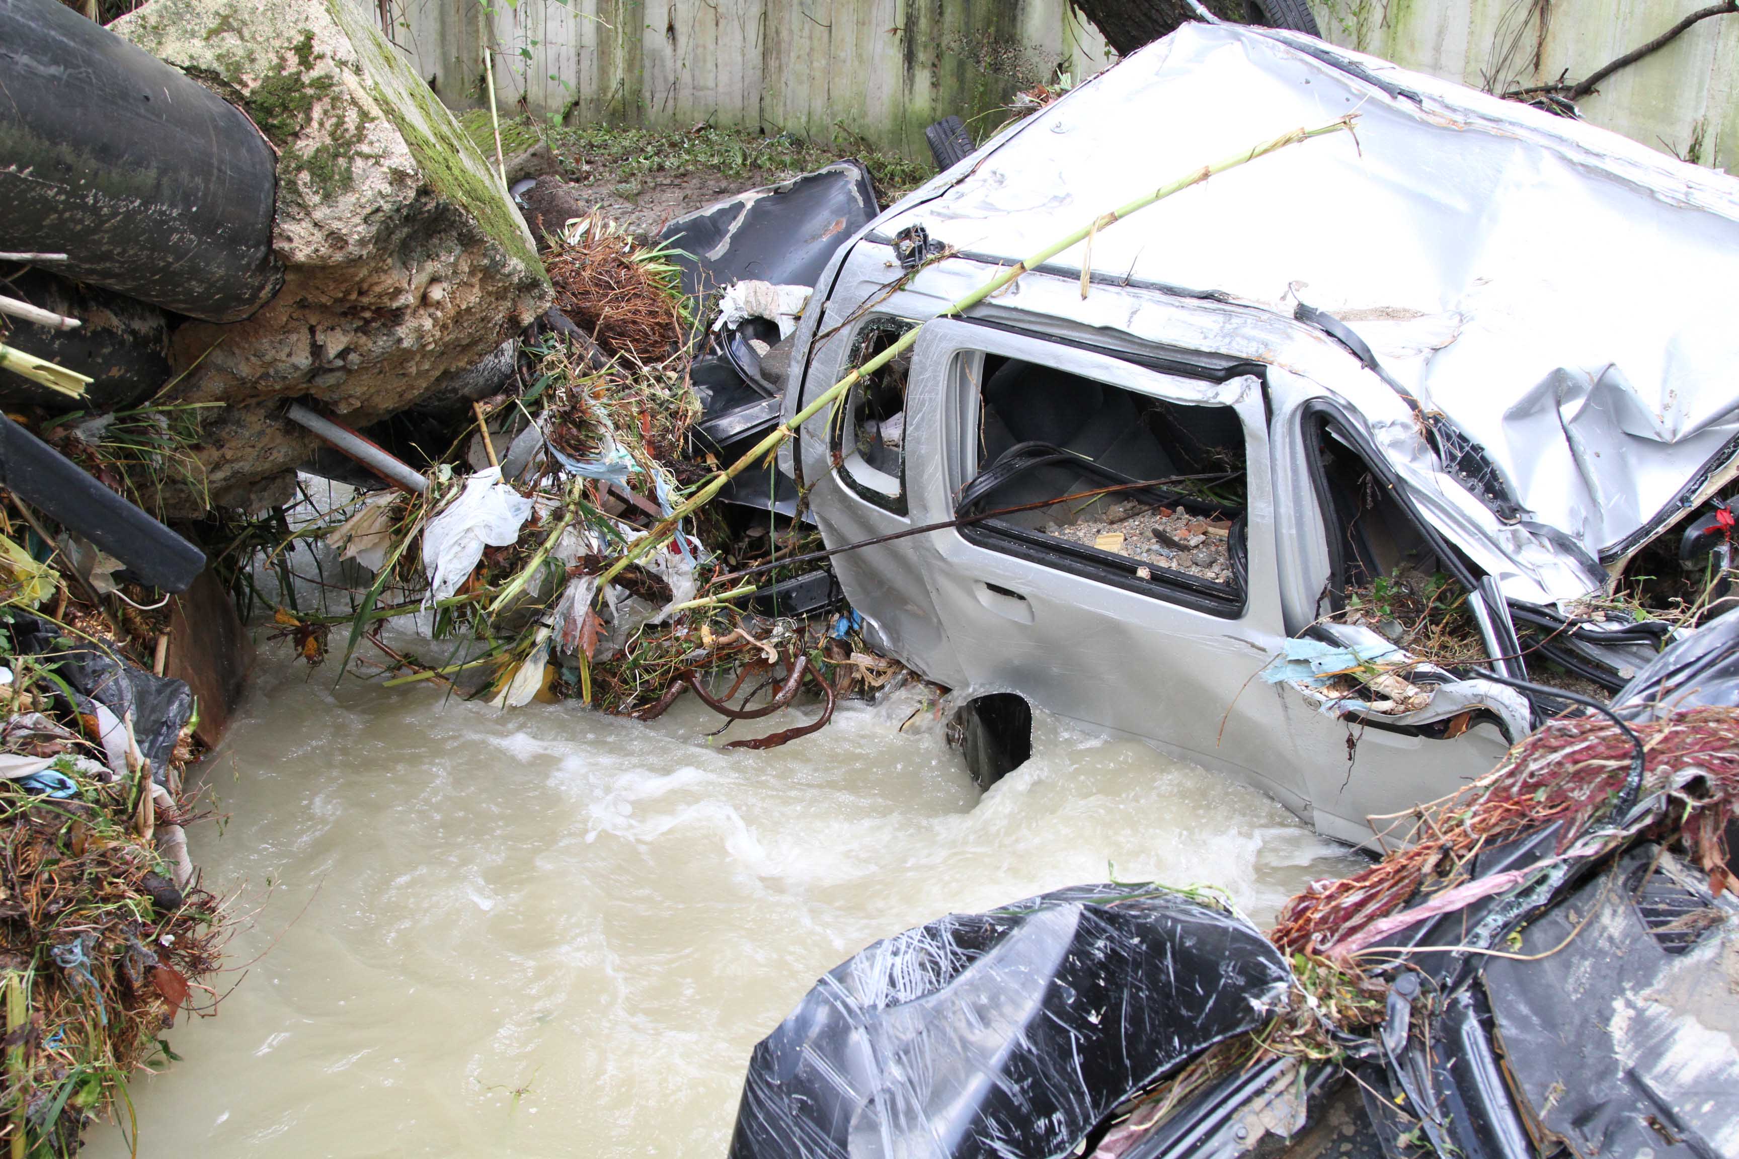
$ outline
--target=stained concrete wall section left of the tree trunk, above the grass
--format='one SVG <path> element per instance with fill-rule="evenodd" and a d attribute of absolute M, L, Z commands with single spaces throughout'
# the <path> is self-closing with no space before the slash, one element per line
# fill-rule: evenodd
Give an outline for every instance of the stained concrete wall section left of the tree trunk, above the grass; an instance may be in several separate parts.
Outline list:
<path fill-rule="evenodd" d="M 370 0 L 372 3 L 372 0 Z M 1017 90 L 1085 76 L 1104 45 L 1063 0 L 391 0 L 395 40 L 443 101 L 647 125 L 746 125 L 929 156 L 949 113 L 977 136 Z"/>

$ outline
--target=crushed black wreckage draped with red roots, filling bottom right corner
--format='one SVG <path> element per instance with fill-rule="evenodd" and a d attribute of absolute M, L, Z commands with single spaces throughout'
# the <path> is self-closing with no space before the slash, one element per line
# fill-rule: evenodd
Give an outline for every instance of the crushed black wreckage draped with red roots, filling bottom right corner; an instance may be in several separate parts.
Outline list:
<path fill-rule="evenodd" d="M 732 1159 L 1713 1156 L 1739 1142 L 1739 617 L 1560 718 L 1264 937 L 1073 886 L 859 952 Z"/>

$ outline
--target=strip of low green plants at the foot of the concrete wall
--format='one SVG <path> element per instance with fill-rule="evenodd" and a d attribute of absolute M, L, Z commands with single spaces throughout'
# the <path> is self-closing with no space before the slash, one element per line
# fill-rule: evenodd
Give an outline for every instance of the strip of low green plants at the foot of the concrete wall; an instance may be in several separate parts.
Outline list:
<path fill-rule="evenodd" d="M 487 151 L 494 155 L 489 113 L 482 116 L 468 113 L 463 120 L 478 141 L 489 137 Z M 584 165 L 593 172 L 610 174 L 617 182 L 642 186 L 656 182 L 664 174 L 716 172 L 750 188 L 821 169 L 842 156 L 856 156 L 870 167 L 876 193 L 887 203 L 936 174 L 930 165 L 870 148 L 850 137 L 809 141 L 791 134 L 769 137 L 751 129 L 551 127 L 529 118 L 501 122 L 504 149 L 515 148 L 510 139 L 529 144 L 534 139 L 532 134 L 541 134 L 550 141 L 550 148 L 567 167 L 569 176 L 576 176 L 576 170 Z"/>

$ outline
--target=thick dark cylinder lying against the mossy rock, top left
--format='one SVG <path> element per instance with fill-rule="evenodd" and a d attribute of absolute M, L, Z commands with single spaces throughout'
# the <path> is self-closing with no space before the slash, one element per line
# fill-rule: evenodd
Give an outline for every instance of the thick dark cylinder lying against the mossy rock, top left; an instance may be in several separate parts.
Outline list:
<path fill-rule="evenodd" d="M 57 0 L 0 0 L 0 250 L 209 321 L 277 294 L 277 156 L 228 101 Z"/>

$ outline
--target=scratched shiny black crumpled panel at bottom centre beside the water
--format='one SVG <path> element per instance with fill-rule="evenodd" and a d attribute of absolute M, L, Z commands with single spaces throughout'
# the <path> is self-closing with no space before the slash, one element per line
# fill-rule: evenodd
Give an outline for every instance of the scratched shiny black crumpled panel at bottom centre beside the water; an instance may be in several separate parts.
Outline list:
<path fill-rule="evenodd" d="M 730 1157 L 1064 1156 L 1289 982 L 1249 923 L 1153 886 L 949 914 L 830 971 L 755 1048 Z"/>

